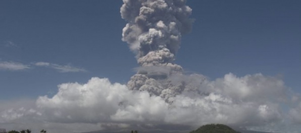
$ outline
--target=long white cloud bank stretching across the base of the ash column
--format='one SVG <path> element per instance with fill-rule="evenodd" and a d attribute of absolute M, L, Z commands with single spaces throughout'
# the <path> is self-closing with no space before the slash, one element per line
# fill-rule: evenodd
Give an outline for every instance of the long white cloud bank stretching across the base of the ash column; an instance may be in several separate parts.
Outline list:
<path fill-rule="evenodd" d="M 36 107 L 0 110 L 0 123 L 22 125 L 20 121 L 29 119 L 32 125 L 49 130 L 74 132 L 131 124 L 184 124 L 195 128 L 224 123 L 264 127 L 289 120 L 289 115 L 294 118 L 291 122 L 301 122 L 301 104 L 288 112 L 281 107 L 290 100 L 289 90 L 280 79 L 262 74 L 227 74 L 215 81 L 206 80 L 201 86 L 198 89 L 204 94 L 185 92 L 177 95 L 173 103 L 166 103 L 160 96 L 131 91 L 108 79 L 91 78 L 86 84 L 59 85 L 56 95 L 39 97 Z"/>

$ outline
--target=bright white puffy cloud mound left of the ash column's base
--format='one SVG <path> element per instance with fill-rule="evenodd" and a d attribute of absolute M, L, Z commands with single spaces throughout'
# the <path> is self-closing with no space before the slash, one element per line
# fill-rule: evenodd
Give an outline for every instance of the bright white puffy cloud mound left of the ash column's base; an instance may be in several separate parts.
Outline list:
<path fill-rule="evenodd" d="M 132 92 L 125 85 L 111 84 L 108 79 L 92 78 L 83 85 L 59 85 L 59 92 L 54 97 L 39 97 L 37 107 L 52 121 L 97 123 L 144 121 L 148 119 L 146 116 L 159 118 L 156 116 L 162 108 L 156 110 L 153 107 L 160 102 L 167 105 L 147 92 Z"/>

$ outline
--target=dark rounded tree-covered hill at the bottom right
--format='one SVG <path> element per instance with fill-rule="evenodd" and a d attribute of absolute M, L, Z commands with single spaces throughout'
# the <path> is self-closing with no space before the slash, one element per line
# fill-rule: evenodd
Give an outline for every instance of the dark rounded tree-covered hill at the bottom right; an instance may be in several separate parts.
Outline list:
<path fill-rule="evenodd" d="M 224 124 L 207 124 L 200 126 L 196 130 L 192 130 L 189 133 L 240 133 L 235 131 L 231 127 Z"/>

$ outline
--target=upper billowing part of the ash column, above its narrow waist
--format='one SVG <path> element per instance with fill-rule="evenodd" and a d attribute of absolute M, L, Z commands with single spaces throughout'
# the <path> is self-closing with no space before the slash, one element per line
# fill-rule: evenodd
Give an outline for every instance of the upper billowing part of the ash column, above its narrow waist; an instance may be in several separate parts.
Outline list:
<path fill-rule="evenodd" d="M 152 62 L 169 63 L 180 47 L 181 34 L 191 30 L 191 9 L 181 0 L 124 0 L 121 16 L 128 24 L 123 29 L 123 41 L 141 58 L 153 52 L 165 57 Z M 160 52 L 163 50 L 164 52 Z M 149 55 L 148 55 L 149 56 Z M 138 59 L 140 65 L 145 59 Z M 149 62 L 149 63 L 152 63 Z M 147 64 L 149 64 L 147 63 Z"/>

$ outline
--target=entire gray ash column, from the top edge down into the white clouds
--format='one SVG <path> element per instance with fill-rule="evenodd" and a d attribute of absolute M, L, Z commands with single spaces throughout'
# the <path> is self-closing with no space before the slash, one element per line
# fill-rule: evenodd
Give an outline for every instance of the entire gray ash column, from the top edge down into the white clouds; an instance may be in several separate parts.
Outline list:
<path fill-rule="evenodd" d="M 182 67 L 173 63 L 181 36 L 191 30 L 193 21 L 189 19 L 192 10 L 185 5 L 186 0 L 123 2 L 120 12 L 128 23 L 123 28 L 122 40 L 136 53 L 141 66 L 128 82 L 128 88 L 161 96 L 167 102 L 184 91 L 196 91 L 197 82 L 183 78 Z"/>

